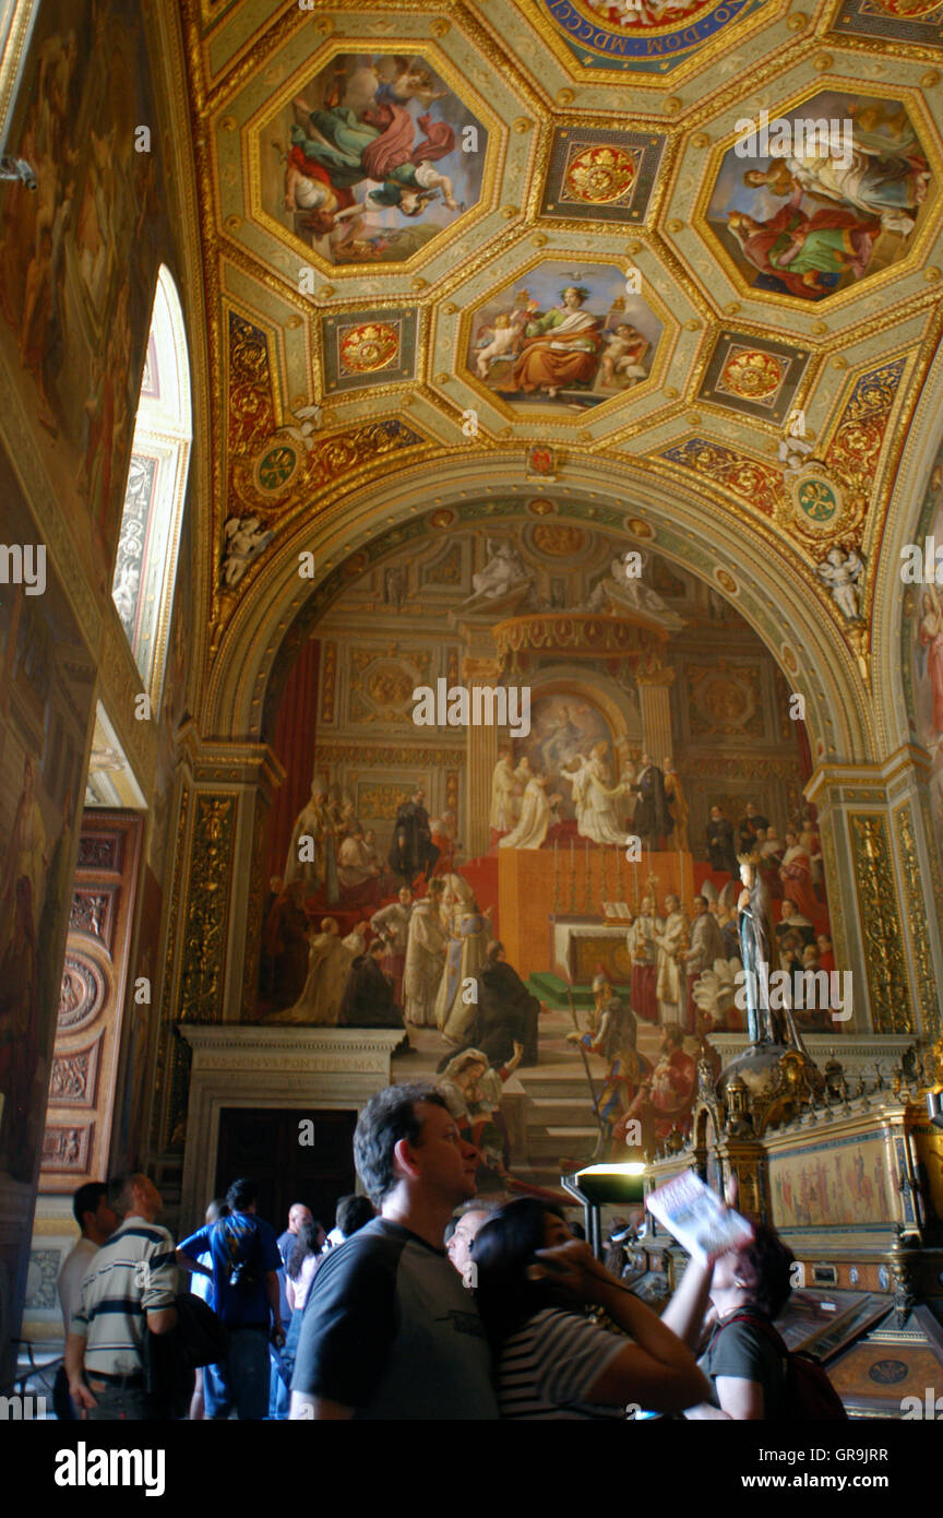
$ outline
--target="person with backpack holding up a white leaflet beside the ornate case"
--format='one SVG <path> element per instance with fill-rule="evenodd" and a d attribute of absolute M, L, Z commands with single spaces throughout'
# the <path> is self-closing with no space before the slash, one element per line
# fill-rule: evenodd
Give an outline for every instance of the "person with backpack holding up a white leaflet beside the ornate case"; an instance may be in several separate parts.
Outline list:
<path fill-rule="evenodd" d="M 734 1183 L 735 1187 L 735 1183 Z M 728 1190 L 728 1202 L 735 1190 Z M 822 1366 L 793 1354 L 773 1327 L 791 1293 L 793 1251 L 772 1224 L 755 1222 L 753 1237 L 710 1264 L 690 1260 L 663 1313 L 697 1360 L 713 1389 L 685 1418 L 804 1422 L 844 1418 Z"/>

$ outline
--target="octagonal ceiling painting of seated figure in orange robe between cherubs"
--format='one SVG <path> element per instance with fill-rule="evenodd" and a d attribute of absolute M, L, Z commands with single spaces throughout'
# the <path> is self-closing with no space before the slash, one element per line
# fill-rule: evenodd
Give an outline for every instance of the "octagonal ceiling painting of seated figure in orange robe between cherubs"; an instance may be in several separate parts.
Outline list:
<path fill-rule="evenodd" d="M 514 405 L 584 410 L 646 380 L 661 332 L 619 269 L 553 260 L 475 310 L 465 361 Z"/>

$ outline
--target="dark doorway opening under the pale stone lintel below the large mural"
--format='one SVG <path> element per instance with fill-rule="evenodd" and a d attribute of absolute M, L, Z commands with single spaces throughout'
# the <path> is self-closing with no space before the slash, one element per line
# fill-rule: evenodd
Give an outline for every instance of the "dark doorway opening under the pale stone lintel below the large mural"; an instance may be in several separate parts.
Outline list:
<path fill-rule="evenodd" d="M 314 1123 L 314 1143 L 300 1143 Z M 259 1189 L 259 1216 L 282 1233 L 293 1202 L 306 1202 L 324 1228 L 334 1227 L 340 1196 L 355 1189 L 355 1111 L 274 1111 L 224 1107 L 220 1111 L 217 1196 L 237 1176 Z"/>

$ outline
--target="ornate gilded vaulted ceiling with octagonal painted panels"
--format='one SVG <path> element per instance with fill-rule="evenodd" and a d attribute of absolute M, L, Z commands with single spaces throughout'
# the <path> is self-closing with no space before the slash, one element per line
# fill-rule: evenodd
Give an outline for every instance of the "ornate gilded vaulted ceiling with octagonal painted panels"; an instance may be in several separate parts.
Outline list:
<path fill-rule="evenodd" d="M 183 15 L 214 647 L 353 499 L 327 563 L 356 563 L 394 521 L 371 522 L 371 481 L 412 471 L 425 509 L 479 457 L 550 499 L 596 466 L 628 496 L 694 499 L 717 572 L 749 524 L 764 572 L 820 604 L 867 680 L 940 334 L 943 5 Z M 829 565 L 851 566 L 851 598 Z"/>

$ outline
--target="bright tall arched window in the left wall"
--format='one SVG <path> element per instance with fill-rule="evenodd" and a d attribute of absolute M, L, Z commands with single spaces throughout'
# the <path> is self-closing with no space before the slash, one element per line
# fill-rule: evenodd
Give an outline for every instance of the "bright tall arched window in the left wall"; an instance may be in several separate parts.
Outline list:
<path fill-rule="evenodd" d="M 161 267 L 111 587 L 144 689 L 161 704 L 193 416 L 183 311 Z"/>

